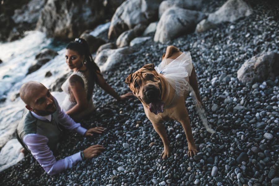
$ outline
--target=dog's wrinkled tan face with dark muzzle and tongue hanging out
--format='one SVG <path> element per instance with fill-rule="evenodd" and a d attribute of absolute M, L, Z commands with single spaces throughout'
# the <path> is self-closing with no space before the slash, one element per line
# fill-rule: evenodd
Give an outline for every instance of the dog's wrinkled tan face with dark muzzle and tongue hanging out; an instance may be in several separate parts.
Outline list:
<path fill-rule="evenodd" d="M 151 112 L 163 112 L 161 100 L 161 78 L 154 69 L 154 64 L 144 65 L 135 73 L 130 74 L 125 81 L 133 94 L 144 104 L 149 104 Z"/>

